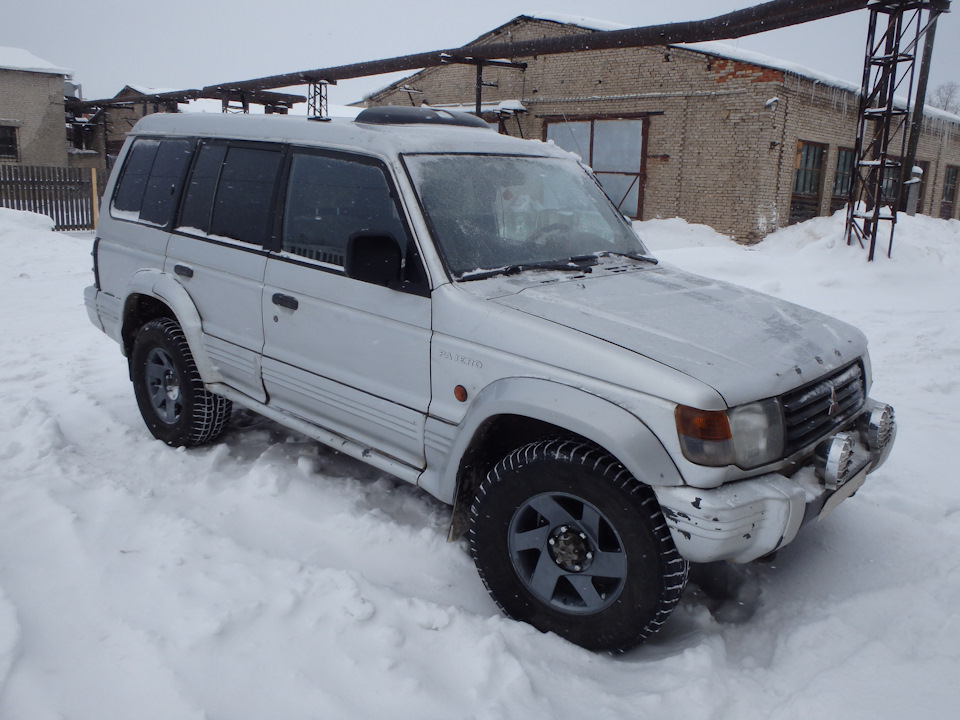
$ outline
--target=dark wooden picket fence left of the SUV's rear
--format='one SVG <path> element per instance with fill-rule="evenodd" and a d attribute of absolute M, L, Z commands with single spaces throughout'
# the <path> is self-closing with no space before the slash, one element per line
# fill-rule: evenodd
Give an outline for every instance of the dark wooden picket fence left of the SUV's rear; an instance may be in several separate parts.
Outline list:
<path fill-rule="evenodd" d="M 0 165 L 0 207 L 53 218 L 54 230 L 92 230 L 102 183 L 93 168 Z"/>

